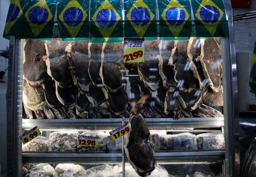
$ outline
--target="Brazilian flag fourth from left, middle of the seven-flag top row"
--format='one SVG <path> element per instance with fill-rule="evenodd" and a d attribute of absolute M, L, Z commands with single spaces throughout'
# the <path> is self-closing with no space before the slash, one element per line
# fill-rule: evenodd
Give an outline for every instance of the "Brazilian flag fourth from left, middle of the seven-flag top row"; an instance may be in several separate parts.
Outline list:
<path fill-rule="evenodd" d="M 122 4 L 119 0 L 90 1 L 90 41 L 113 42 L 123 37 Z"/>

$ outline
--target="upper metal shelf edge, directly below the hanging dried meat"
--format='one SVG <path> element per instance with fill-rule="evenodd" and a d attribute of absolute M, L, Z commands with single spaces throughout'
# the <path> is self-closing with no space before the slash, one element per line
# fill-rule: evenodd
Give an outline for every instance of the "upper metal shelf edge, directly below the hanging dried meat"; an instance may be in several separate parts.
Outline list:
<path fill-rule="evenodd" d="M 128 121 L 128 119 L 126 119 Z M 146 118 L 150 129 L 216 128 L 224 127 L 224 117 Z M 38 126 L 39 129 L 113 129 L 122 124 L 122 119 L 23 119 L 23 129 Z"/>

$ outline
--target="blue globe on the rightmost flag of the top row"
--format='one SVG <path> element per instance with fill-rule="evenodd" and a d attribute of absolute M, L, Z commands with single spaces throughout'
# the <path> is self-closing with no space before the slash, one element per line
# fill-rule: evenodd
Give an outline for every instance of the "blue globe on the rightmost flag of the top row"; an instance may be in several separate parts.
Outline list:
<path fill-rule="evenodd" d="M 220 11 L 214 6 L 203 6 L 200 10 L 200 17 L 205 23 L 215 23 L 220 18 Z"/>

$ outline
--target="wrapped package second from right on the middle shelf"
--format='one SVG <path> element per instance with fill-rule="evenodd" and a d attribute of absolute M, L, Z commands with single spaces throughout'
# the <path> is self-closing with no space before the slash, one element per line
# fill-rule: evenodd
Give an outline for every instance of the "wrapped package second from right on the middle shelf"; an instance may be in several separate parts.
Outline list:
<path fill-rule="evenodd" d="M 168 150 L 197 150 L 196 136 L 191 133 L 168 134 Z"/>

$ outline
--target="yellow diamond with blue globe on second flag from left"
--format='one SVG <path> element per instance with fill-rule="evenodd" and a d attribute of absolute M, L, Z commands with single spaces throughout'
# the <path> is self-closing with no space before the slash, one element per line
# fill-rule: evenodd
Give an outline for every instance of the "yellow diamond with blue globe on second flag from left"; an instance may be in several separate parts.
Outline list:
<path fill-rule="evenodd" d="M 34 36 L 37 37 L 53 16 L 46 0 L 39 0 L 38 3 L 28 8 L 25 17 Z"/>

